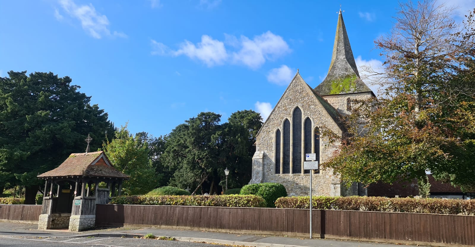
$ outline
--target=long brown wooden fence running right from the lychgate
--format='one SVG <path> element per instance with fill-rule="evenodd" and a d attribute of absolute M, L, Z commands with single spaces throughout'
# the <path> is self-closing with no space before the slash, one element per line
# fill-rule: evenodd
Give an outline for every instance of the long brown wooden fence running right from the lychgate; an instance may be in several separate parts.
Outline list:
<path fill-rule="evenodd" d="M 308 218 L 308 209 L 109 204 L 97 205 L 95 223 L 304 237 Z M 313 233 L 336 239 L 475 245 L 475 216 L 314 210 Z"/>

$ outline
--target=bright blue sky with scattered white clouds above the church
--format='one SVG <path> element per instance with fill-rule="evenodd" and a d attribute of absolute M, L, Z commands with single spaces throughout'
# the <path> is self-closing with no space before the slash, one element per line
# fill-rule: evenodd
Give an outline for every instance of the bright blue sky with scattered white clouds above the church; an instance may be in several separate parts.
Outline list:
<path fill-rule="evenodd" d="M 201 111 L 265 118 L 297 68 L 324 79 L 340 3 L 357 64 L 379 67 L 396 0 L 38 0 L 1 1 L 0 76 L 69 76 L 116 126 L 154 136 Z"/>

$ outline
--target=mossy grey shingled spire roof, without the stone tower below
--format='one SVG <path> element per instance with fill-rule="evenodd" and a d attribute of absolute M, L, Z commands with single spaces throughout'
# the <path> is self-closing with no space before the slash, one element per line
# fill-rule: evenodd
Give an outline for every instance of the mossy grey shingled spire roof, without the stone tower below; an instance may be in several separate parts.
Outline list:
<path fill-rule="evenodd" d="M 328 74 L 315 90 L 320 95 L 372 92 L 360 79 L 350 40 L 343 22 L 342 10 L 338 14 L 333 56 Z"/>

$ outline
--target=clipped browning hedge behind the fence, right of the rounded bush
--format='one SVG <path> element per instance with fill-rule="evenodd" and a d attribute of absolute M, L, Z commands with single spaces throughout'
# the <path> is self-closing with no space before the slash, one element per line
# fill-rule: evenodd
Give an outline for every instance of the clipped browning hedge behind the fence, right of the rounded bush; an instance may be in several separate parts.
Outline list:
<path fill-rule="evenodd" d="M 310 197 L 278 198 L 279 208 L 309 208 Z M 313 197 L 315 209 L 475 215 L 475 200 L 384 197 Z"/>

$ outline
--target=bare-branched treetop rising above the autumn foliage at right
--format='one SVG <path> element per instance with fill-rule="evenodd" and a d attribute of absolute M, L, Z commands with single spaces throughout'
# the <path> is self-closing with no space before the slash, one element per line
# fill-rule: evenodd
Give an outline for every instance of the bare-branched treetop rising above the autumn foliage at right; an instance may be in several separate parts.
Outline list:
<path fill-rule="evenodd" d="M 463 68 L 463 57 L 474 47 L 474 23 L 462 25 L 453 18 L 454 8 L 432 0 L 400 3 L 390 33 L 377 39 L 384 57 L 384 83 L 387 94 L 410 93 L 419 112 L 440 89 L 462 90 L 450 85 L 450 78 Z"/>

